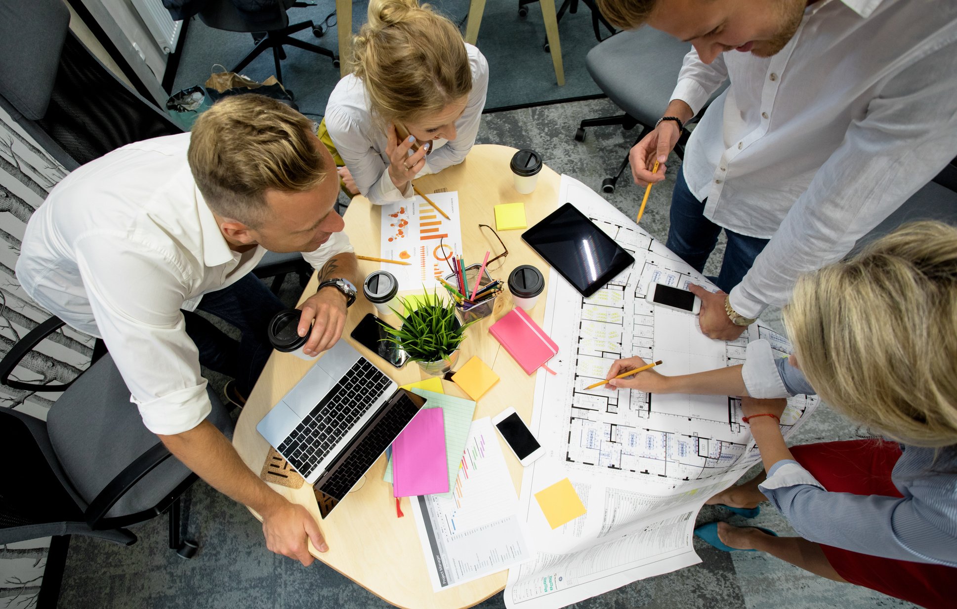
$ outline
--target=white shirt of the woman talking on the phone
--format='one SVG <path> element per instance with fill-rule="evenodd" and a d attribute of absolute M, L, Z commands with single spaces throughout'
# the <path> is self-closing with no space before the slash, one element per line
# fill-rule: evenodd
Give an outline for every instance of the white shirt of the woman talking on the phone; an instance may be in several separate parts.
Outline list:
<path fill-rule="evenodd" d="M 426 44 L 428 44 L 426 42 Z M 488 62 L 476 47 L 466 44 L 472 68 L 472 91 L 465 112 L 456 120 L 456 139 L 434 140 L 432 152 L 418 175 L 438 173 L 461 163 L 479 134 L 481 111 L 488 91 Z M 336 144 L 359 192 L 376 205 L 388 205 L 414 196 L 412 185 L 401 192 L 389 178 L 389 139 L 382 125 L 374 120 L 366 97 L 366 86 L 355 75 L 345 76 L 332 90 L 325 106 L 325 128 Z"/>

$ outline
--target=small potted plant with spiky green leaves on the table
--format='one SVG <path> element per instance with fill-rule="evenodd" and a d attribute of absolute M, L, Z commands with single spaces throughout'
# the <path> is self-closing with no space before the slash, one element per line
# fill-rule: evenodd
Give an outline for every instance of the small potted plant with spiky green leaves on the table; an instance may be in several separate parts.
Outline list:
<path fill-rule="evenodd" d="M 409 354 L 427 374 L 438 376 L 452 370 L 458 359 L 458 346 L 465 338 L 465 329 L 456 317 L 454 303 L 445 303 L 434 292 L 424 297 L 399 298 L 405 315 L 392 309 L 402 319 L 398 329 L 383 324 L 388 337 L 383 338 Z"/>

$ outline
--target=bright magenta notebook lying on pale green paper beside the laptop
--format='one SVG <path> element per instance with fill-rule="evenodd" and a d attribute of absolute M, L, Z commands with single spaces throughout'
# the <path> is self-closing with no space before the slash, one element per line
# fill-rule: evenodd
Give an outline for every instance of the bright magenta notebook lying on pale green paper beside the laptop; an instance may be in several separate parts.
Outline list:
<path fill-rule="evenodd" d="M 441 408 L 422 408 L 392 442 L 392 496 L 449 491 Z"/>

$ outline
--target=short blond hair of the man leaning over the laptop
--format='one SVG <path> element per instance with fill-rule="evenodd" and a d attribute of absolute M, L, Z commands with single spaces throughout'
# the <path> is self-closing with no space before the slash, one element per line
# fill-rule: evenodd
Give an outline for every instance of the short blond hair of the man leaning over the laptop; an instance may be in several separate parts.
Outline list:
<path fill-rule="evenodd" d="M 256 228 L 269 218 L 265 193 L 309 190 L 329 167 L 311 120 L 273 98 L 224 98 L 200 115 L 189 169 L 217 214 Z"/>

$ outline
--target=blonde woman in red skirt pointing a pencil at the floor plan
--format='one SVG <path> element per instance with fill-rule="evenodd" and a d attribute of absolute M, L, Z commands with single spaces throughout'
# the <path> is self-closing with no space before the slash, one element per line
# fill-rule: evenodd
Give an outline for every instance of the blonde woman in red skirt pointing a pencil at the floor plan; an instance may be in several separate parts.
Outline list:
<path fill-rule="evenodd" d="M 849 260 L 802 276 L 785 309 L 794 355 L 767 340 L 746 363 L 666 377 L 619 359 L 609 385 L 648 393 L 744 396 L 742 422 L 765 472 L 711 497 L 746 518 L 770 501 L 801 536 L 709 523 L 720 550 L 759 550 L 812 573 L 931 609 L 957 582 L 957 228 L 904 226 Z M 816 392 L 815 392 L 816 389 Z M 881 439 L 789 447 L 780 417 L 798 393 Z"/>

